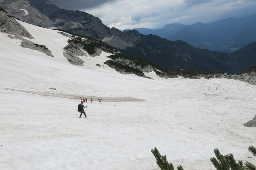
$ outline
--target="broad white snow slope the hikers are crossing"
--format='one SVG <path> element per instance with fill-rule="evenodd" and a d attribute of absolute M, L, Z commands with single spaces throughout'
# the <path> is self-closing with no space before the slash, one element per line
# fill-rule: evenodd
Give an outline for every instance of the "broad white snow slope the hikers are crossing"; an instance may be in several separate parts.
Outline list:
<path fill-rule="evenodd" d="M 0 33 L 0 169 L 157 170 L 154 147 L 187 170 L 213 169 L 214 148 L 256 163 L 247 150 L 256 129 L 242 125 L 255 115 L 256 86 L 124 75 L 103 64 L 104 52 L 71 65 L 63 57 L 67 37 L 20 23 L 54 58 Z M 87 103 L 86 119 L 72 96 L 146 101 Z"/>

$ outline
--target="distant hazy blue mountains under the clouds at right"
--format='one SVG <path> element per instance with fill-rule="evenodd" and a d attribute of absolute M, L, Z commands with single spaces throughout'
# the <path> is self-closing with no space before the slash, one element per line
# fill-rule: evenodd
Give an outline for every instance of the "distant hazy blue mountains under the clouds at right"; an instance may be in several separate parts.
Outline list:
<path fill-rule="evenodd" d="M 213 23 L 192 25 L 168 24 L 161 29 L 135 28 L 170 40 L 182 40 L 198 48 L 234 52 L 256 41 L 256 14 L 244 18 L 230 17 Z"/>

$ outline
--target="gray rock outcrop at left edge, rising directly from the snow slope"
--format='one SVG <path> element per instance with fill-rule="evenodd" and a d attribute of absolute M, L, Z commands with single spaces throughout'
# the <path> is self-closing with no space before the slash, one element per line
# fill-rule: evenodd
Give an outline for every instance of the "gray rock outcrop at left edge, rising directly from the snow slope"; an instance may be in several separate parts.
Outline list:
<path fill-rule="evenodd" d="M 0 11 L 0 32 L 34 39 L 20 23 L 12 18 L 12 16 L 9 16 L 4 10 Z"/>

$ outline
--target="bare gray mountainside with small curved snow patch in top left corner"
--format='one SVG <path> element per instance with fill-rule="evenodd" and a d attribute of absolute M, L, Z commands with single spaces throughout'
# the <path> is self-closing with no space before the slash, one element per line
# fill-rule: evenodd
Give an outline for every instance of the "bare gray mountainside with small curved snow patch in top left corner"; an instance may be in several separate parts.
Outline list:
<path fill-rule="evenodd" d="M 4 8 L 8 14 L 26 23 L 45 28 L 54 25 L 47 16 L 41 14 L 40 11 L 33 6 L 30 6 L 28 0 L 0 0 L 0 6 Z"/>

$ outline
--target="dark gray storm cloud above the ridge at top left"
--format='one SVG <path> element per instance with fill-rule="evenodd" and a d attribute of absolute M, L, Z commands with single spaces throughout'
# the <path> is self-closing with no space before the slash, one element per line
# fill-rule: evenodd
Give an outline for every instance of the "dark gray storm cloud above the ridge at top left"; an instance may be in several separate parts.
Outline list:
<path fill-rule="evenodd" d="M 94 8 L 116 0 L 48 0 L 50 3 L 66 10 Z"/>

